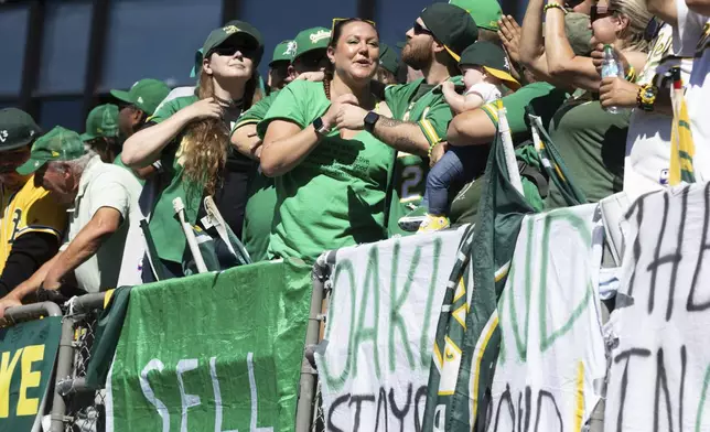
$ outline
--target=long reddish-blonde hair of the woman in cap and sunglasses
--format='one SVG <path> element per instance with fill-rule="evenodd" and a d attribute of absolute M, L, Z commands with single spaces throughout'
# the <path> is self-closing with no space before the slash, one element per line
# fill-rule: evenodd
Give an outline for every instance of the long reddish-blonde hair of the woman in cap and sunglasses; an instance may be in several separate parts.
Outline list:
<path fill-rule="evenodd" d="M 258 88 L 259 73 L 256 71 L 247 82 L 244 90 L 243 110 L 261 100 Z M 215 96 L 215 86 L 211 75 L 200 73 L 197 82 L 200 100 Z M 180 159 L 183 161 L 183 179 L 195 186 L 204 188 L 206 195 L 214 195 L 222 181 L 222 171 L 227 162 L 229 150 L 229 129 L 222 119 L 202 119 L 185 128 Z"/>

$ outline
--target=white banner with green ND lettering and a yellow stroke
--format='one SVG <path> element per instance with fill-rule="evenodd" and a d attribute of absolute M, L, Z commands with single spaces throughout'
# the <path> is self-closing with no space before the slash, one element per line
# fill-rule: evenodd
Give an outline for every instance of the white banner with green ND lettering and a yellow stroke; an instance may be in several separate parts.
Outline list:
<path fill-rule="evenodd" d="M 606 369 L 599 314 L 603 227 L 589 204 L 526 216 L 498 301 L 490 432 L 580 432 Z"/>

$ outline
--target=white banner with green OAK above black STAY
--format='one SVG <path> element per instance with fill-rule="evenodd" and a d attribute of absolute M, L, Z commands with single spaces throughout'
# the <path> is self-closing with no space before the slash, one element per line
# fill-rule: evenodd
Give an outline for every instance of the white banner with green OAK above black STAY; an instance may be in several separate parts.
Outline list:
<path fill-rule="evenodd" d="M 420 431 L 463 229 L 337 251 L 316 354 L 327 431 Z"/>

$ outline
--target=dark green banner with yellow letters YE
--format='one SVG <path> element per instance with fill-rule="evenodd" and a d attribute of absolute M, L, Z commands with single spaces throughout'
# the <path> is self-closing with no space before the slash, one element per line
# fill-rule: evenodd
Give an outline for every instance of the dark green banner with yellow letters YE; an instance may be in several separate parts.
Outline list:
<path fill-rule="evenodd" d="M 0 330 L 0 431 L 31 431 L 43 414 L 61 334 L 61 316 Z"/>

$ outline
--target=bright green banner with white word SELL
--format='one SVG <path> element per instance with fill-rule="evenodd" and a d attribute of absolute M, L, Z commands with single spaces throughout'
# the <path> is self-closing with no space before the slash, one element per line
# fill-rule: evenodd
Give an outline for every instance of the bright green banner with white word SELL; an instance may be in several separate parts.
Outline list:
<path fill-rule="evenodd" d="M 130 292 L 108 431 L 292 431 L 311 267 L 262 262 Z"/>

